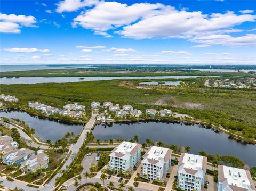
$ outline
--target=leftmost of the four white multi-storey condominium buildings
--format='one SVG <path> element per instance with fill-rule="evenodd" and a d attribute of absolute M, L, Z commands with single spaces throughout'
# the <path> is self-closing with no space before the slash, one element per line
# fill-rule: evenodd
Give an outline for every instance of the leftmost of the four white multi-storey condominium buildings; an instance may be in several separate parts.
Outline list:
<path fill-rule="evenodd" d="M 141 144 L 126 141 L 119 144 L 109 155 L 109 169 L 122 170 L 123 173 L 127 170 L 132 171 L 140 160 L 141 146 Z"/>

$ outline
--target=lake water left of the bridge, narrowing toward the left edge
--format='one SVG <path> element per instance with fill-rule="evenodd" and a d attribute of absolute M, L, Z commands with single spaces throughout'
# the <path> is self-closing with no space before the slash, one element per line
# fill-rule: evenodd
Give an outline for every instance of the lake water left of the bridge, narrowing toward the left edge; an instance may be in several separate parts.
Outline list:
<path fill-rule="evenodd" d="M 77 136 L 83 129 L 82 124 L 68 124 L 57 120 L 39 119 L 37 116 L 32 116 L 20 110 L 1 111 L 0 116 L 25 121 L 30 128 L 35 129 L 39 137 L 44 140 L 50 139 L 52 142 L 65 136 L 67 132 L 74 132 Z"/>

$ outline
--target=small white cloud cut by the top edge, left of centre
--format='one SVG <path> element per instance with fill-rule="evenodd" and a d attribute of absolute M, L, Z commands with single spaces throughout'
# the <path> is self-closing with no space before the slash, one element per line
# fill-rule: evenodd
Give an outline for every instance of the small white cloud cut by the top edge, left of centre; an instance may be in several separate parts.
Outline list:
<path fill-rule="evenodd" d="M 81 9 L 82 7 L 91 7 L 92 5 L 98 4 L 98 0 L 64 0 L 57 3 L 57 9 L 56 12 L 62 13 L 62 12 L 71 12 L 71 11 L 77 11 L 78 9 Z"/>

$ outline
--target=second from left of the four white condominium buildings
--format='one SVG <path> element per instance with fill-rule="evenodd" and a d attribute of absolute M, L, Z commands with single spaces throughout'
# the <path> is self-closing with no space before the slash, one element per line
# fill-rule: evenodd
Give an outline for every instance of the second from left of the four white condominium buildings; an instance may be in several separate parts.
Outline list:
<path fill-rule="evenodd" d="M 142 175 L 147 175 L 148 179 L 164 180 L 171 167 L 172 150 L 169 148 L 150 146 L 143 156 Z"/>

